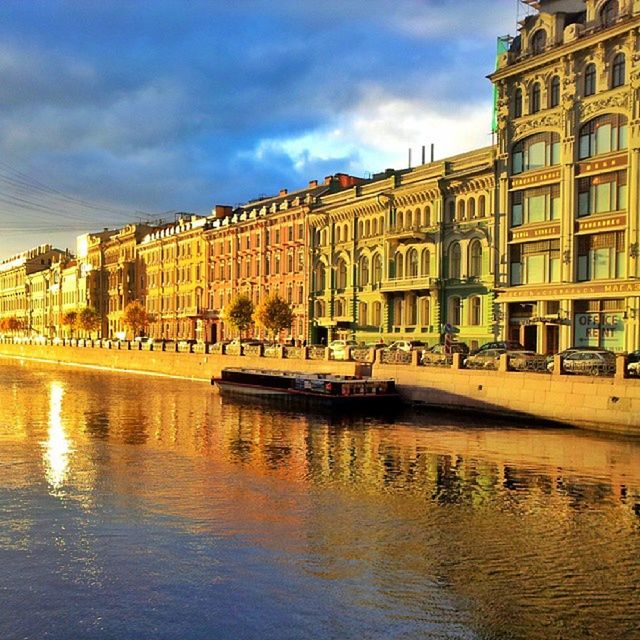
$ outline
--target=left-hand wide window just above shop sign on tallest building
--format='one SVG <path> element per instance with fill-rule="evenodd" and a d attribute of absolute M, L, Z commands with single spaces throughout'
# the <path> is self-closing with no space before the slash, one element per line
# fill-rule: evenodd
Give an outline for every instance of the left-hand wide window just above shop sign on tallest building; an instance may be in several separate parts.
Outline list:
<path fill-rule="evenodd" d="M 510 248 L 511 284 L 560 281 L 560 241 L 541 240 Z"/>

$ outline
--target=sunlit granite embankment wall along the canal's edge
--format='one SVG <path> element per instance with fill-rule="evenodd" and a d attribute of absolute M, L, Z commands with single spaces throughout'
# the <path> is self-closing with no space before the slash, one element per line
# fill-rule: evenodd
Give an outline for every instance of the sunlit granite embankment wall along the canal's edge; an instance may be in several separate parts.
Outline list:
<path fill-rule="evenodd" d="M 97 346 L 0 343 L 0 355 L 59 364 L 172 375 L 209 380 L 225 366 L 353 374 L 356 362 L 287 359 L 213 353 L 185 353 Z M 284 353 L 280 353 L 284 355 Z M 375 358 L 374 358 L 375 360 Z M 506 369 L 506 367 L 501 367 Z M 567 376 L 515 371 L 463 369 L 410 364 L 371 364 L 374 377 L 395 378 L 411 403 L 466 411 L 561 422 L 577 427 L 640 436 L 640 379 Z"/>

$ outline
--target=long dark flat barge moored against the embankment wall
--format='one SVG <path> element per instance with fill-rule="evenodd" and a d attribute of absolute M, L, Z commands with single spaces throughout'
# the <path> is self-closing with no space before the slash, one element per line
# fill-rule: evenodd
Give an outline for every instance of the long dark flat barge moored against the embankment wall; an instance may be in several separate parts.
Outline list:
<path fill-rule="evenodd" d="M 222 395 L 298 399 L 325 406 L 376 406 L 400 399 L 392 379 L 365 378 L 331 373 L 303 373 L 272 369 L 225 367 L 211 378 Z"/>

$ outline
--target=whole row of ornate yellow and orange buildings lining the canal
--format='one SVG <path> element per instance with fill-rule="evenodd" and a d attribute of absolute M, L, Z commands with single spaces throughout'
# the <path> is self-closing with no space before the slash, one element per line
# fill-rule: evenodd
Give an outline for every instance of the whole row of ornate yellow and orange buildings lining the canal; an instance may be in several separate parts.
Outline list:
<path fill-rule="evenodd" d="M 225 306 L 273 292 L 290 336 L 555 352 L 640 344 L 640 0 L 540 0 L 503 40 L 496 143 L 369 179 L 336 174 L 210 216 L 132 224 L 0 263 L 0 319 L 60 335 L 91 306 L 121 334 L 229 337 Z"/>

